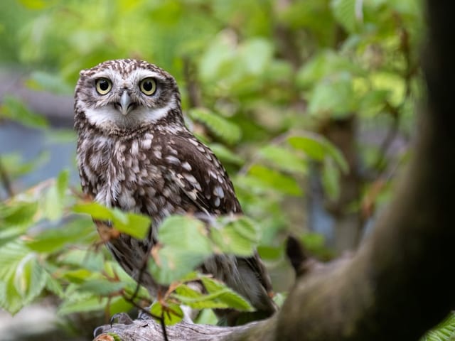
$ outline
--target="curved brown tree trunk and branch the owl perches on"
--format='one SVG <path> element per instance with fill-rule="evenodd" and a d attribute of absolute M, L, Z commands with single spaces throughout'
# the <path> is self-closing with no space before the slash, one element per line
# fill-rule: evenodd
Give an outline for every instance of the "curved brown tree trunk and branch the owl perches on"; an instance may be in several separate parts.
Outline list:
<path fill-rule="evenodd" d="M 395 199 L 358 252 L 297 278 L 282 310 L 269 320 L 237 328 L 181 323 L 168 327 L 169 340 L 417 340 L 454 308 L 451 7 L 449 0 L 427 0 L 428 92 L 419 139 Z M 160 330 L 151 321 L 103 329 L 124 341 L 163 340 Z"/>

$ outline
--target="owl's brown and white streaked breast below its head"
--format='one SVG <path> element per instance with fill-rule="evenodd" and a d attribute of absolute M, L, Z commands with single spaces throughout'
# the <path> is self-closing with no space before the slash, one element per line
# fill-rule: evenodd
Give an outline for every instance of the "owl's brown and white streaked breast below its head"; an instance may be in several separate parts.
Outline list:
<path fill-rule="evenodd" d="M 78 146 L 82 190 L 108 207 L 149 215 L 154 225 L 184 213 L 181 188 L 166 170 L 167 148 L 149 133 L 134 139 L 83 139 Z"/>

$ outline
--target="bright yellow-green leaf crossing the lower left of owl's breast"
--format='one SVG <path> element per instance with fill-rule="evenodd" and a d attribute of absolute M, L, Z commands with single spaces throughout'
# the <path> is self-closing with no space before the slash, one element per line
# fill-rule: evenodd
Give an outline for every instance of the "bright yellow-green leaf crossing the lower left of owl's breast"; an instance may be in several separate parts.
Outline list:
<path fill-rule="evenodd" d="M 150 217 L 136 213 L 122 212 L 118 208 L 109 208 L 97 202 L 81 202 L 73 206 L 73 212 L 91 215 L 93 219 L 112 222 L 119 232 L 137 239 L 144 239 L 149 233 Z"/>

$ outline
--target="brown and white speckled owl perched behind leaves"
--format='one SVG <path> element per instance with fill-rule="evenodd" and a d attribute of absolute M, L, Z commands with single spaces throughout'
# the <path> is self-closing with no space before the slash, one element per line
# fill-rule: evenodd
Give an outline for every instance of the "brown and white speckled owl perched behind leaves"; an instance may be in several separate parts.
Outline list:
<path fill-rule="evenodd" d="M 75 88 L 75 130 L 83 192 L 108 207 L 152 218 L 146 239 L 120 234 L 107 242 L 122 268 L 152 296 L 160 286 L 146 271 L 146 261 L 165 217 L 242 213 L 220 161 L 184 124 L 176 80 L 156 65 L 122 59 L 82 70 Z M 247 298 L 258 316 L 276 310 L 257 254 L 215 255 L 200 271 Z M 229 314 L 228 323 L 235 323 L 238 314 Z"/>

